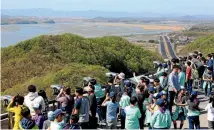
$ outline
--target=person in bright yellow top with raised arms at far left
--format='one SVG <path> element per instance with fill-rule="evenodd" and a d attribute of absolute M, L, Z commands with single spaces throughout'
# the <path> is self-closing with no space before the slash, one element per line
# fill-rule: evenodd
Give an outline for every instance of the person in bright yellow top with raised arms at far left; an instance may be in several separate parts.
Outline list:
<path fill-rule="evenodd" d="M 15 113 L 14 119 L 14 130 L 19 129 L 19 122 L 22 119 L 21 109 L 23 107 L 24 97 L 23 96 L 15 96 L 12 101 L 7 106 L 7 111 Z"/>

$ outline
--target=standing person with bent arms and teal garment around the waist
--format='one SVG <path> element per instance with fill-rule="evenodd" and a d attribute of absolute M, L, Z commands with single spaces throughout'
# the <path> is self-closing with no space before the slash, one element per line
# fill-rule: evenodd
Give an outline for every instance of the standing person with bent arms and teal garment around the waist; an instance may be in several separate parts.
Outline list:
<path fill-rule="evenodd" d="M 173 113 L 172 120 L 174 129 L 177 129 L 177 121 L 180 121 L 180 129 L 183 128 L 184 121 L 186 120 L 187 110 L 185 108 L 186 105 L 186 95 L 185 95 L 185 87 L 181 86 L 180 91 L 175 97 L 174 104 L 176 105 L 176 110 Z"/>

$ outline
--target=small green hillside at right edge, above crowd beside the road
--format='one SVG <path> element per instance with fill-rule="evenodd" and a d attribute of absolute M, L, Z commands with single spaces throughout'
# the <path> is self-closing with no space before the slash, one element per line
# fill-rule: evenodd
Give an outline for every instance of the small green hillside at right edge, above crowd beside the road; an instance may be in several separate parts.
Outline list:
<path fill-rule="evenodd" d="M 214 52 L 214 35 L 201 37 L 196 39 L 194 42 L 188 44 L 182 51 L 182 54 L 187 54 L 193 51 L 201 51 L 207 55 Z"/>

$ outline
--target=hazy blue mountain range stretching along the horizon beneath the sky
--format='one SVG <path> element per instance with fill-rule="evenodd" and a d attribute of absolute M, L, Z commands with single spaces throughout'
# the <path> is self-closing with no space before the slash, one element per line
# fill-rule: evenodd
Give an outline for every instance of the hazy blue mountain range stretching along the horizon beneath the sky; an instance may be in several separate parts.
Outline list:
<path fill-rule="evenodd" d="M 52 9 L 2 9 L 2 14 L 10 16 L 35 17 L 83 17 L 83 18 L 147 18 L 163 20 L 214 20 L 214 15 L 184 15 L 178 13 L 153 12 L 105 12 L 105 11 L 57 11 Z"/>

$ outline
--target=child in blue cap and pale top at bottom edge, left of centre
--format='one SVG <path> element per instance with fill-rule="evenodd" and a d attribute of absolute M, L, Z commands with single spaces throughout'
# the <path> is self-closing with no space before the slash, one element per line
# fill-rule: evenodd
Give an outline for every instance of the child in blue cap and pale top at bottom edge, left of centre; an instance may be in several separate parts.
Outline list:
<path fill-rule="evenodd" d="M 51 122 L 49 130 L 62 130 L 63 125 L 63 117 L 65 116 L 65 112 L 63 112 L 61 109 L 56 109 L 53 113 L 54 115 L 54 121 Z"/>

